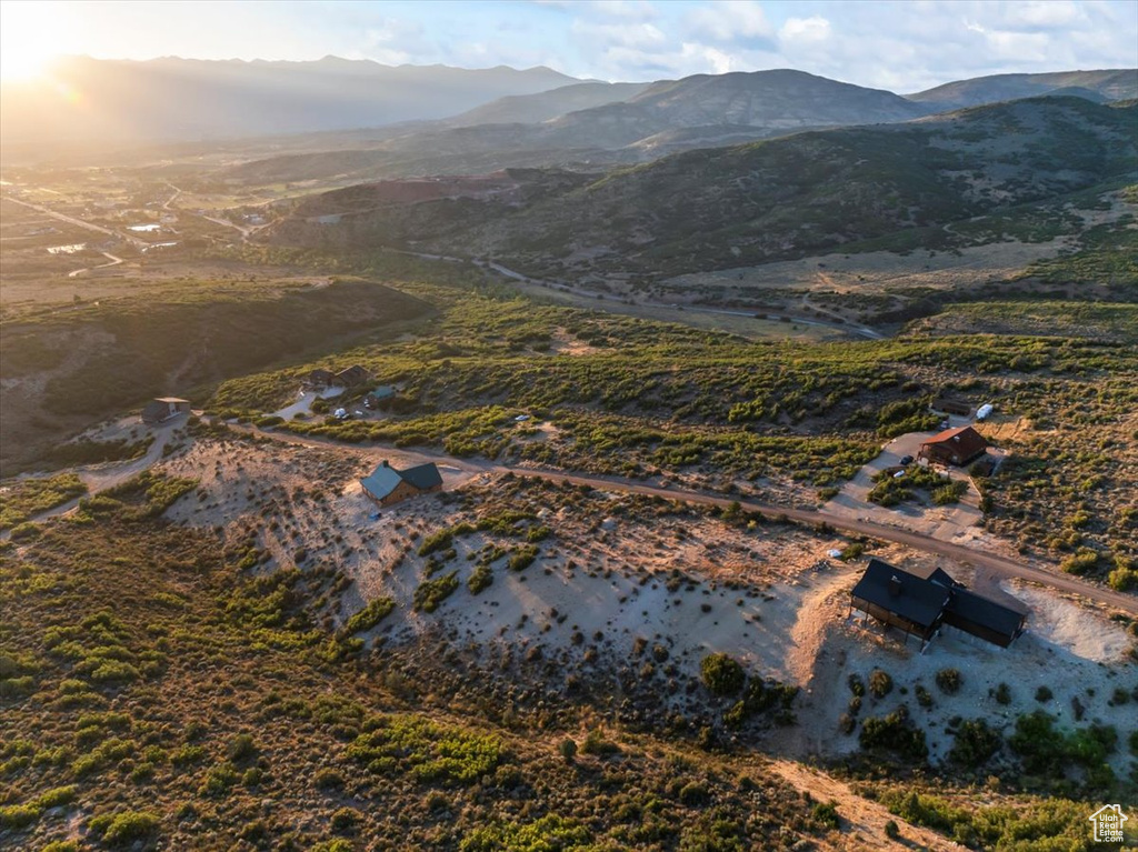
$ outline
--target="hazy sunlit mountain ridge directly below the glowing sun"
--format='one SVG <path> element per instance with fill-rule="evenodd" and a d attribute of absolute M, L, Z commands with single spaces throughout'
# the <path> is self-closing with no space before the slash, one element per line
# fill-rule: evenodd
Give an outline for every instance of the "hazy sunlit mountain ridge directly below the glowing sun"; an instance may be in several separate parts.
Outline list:
<path fill-rule="evenodd" d="M 316 61 L 67 57 L 0 85 L 6 144 L 197 140 L 438 119 L 580 81 L 544 66 L 467 69 Z"/>

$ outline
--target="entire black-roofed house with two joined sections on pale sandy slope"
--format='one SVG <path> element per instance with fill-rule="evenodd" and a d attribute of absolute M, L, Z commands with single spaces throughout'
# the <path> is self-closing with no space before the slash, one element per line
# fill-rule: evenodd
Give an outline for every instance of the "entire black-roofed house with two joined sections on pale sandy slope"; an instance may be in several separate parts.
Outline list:
<path fill-rule="evenodd" d="M 916 636 L 921 650 L 945 626 L 1007 647 L 1023 632 L 1026 614 L 964 587 L 943 569 L 922 577 L 877 559 L 850 593 L 850 610 L 860 610 L 887 627 Z"/>

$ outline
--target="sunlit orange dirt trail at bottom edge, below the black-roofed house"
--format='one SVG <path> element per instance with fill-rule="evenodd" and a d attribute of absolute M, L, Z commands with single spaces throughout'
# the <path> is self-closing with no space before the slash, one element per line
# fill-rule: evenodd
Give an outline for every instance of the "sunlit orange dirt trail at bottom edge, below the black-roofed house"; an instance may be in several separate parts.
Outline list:
<path fill-rule="evenodd" d="M 777 760 L 770 764 L 785 781 L 800 791 L 809 793 L 819 802 L 836 802 L 838 814 L 842 827 L 849 827 L 850 834 L 857 839 L 856 845 L 847 849 L 913 849 L 922 846 L 931 850 L 964 850 L 958 843 L 941 837 L 927 828 L 910 825 L 890 813 L 884 805 L 863 799 L 844 781 L 832 778 L 816 769 L 794 763 L 789 760 Z M 900 827 L 900 837 L 892 841 L 885 836 L 885 824 L 893 820 Z"/>

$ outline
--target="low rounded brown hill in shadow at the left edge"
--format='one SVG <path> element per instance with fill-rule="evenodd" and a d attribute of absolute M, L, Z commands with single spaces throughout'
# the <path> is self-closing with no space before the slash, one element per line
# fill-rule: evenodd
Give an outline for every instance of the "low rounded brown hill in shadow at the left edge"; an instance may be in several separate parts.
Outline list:
<path fill-rule="evenodd" d="M 430 311 L 411 296 L 363 281 L 198 283 L 6 322 L 0 457 L 7 472 L 68 431 L 148 397 L 192 396 L 231 375 Z"/>

